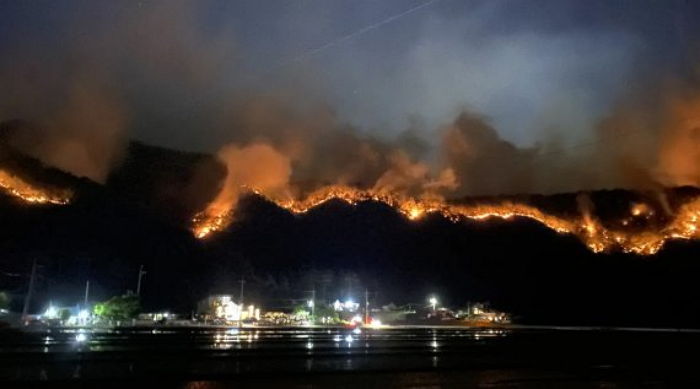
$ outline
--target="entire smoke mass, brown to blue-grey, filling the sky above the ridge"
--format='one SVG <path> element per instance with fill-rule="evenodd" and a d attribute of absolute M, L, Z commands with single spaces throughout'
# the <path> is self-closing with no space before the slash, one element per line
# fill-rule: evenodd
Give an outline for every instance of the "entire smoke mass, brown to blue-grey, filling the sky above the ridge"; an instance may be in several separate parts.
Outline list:
<path fill-rule="evenodd" d="M 264 71 L 195 2 L 110 5 L 94 20 L 76 12 L 61 44 L 17 34 L 5 50 L 0 120 L 35 123 L 16 147 L 100 182 L 133 134 L 212 153 L 226 144 L 216 212 L 245 186 L 290 198 L 326 185 L 459 198 L 700 185 L 698 93 L 656 85 L 669 72 L 642 81 L 643 36 L 474 4 L 455 18 L 438 3 L 410 34 L 376 31 L 392 55 L 358 40 Z M 576 7 L 552 4 L 576 24 L 564 12 Z M 494 27 L 502 20 L 514 23 Z"/>

